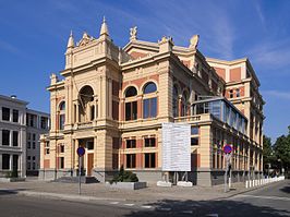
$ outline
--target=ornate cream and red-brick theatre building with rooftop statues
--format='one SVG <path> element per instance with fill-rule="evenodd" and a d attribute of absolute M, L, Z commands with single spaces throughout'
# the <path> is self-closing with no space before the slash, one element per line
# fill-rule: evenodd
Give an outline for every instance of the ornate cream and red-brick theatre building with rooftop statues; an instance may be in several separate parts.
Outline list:
<path fill-rule="evenodd" d="M 62 80 L 50 76 L 51 129 L 41 136 L 40 179 L 74 177 L 76 148 L 85 176 L 104 182 L 123 166 L 141 181 L 162 174 L 162 123 L 191 125 L 191 171 L 194 184 L 222 183 L 222 147 L 233 146 L 233 181 L 262 172 L 263 99 L 247 59 L 207 59 L 172 38 L 137 39 L 116 46 L 106 21 L 95 38 L 78 43 L 71 34 Z"/>

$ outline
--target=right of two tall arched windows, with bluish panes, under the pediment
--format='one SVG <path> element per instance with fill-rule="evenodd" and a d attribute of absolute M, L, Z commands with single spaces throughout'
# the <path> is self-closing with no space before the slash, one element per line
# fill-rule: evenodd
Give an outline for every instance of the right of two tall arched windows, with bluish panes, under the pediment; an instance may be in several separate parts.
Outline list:
<path fill-rule="evenodd" d="M 143 98 L 143 118 L 155 118 L 157 116 L 157 86 L 153 82 L 148 82 L 144 86 Z"/>

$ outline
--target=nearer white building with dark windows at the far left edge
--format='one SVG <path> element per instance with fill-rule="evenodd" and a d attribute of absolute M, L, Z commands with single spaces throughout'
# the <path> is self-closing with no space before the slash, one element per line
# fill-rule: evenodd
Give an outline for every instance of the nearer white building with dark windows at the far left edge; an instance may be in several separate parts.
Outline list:
<path fill-rule="evenodd" d="M 26 176 L 27 101 L 0 95 L 0 176 L 16 169 Z"/>

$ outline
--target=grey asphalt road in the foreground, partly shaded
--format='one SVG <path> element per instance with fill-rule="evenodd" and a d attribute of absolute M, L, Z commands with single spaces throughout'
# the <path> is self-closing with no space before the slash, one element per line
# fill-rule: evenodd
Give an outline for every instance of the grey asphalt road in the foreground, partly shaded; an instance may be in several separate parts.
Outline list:
<path fill-rule="evenodd" d="M 0 217 L 290 216 L 290 180 L 219 201 L 75 203 L 0 192 Z"/>

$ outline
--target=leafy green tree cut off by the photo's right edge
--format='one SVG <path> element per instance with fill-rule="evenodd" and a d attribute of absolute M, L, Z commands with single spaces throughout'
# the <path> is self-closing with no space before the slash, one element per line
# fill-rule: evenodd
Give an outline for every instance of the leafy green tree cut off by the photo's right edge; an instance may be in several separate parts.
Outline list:
<path fill-rule="evenodd" d="M 286 172 L 288 172 L 290 166 L 290 126 L 288 126 L 288 135 L 278 137 L 274 145 L 278 165 L 280 168 L 285 168 Z"/>

